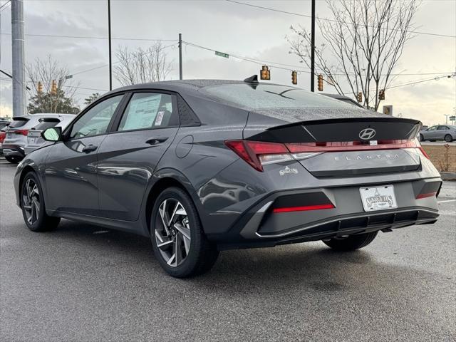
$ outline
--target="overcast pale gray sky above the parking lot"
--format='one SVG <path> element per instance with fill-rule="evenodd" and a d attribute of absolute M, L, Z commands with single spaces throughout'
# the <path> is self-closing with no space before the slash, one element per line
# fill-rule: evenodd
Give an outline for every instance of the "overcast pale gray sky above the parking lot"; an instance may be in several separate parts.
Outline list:
<path fill-rule="evenodd" d="M 311 14 L 311 1 L 248 1 L 295 14 Z M 6 0 L 0 0 L 0 6 Z M 11 6 L 0 10 L 0 69 L 11 73 Z M 330 17 L 326 1 L 316 1 L 316 15 Z M 167 58 L 172 62 L 169 79 L 179 78 L 177 37 L 184 41 L 235 56 L 289 64 L 305 69 L 299 58 L 289 54 L 286 36 L 290 26 L 310 28 L 310 19 L 243 6 L 229 1 L 193 0 L 111 0 L 113 51 L 123 46 L 147 48 L 163 39 Z M 423 0 L 415 15 L 417 31 L 456 36 L 456 0 Z M 26 63 L 51 55 L 68 68 L 73 82 L 78 83 L 76 98 L 91 93 L 104 93 L 109 88 L 108 76 L 108 11 L 106 0 L 26 0 L 24 32 L 46 36 L 26 36 Z M 78 36 L 68 38 L 57 36 Z M 136 39 L 136 40 L 133 40 Z M 323 38 L 316 32 L 316 45 Z M 261 63 L 251 63 L 230 56 L 222 58 L 195 46 L 184 45 L 184 78 L 223 78 L 242 80 L 258 74 Z M 329 56 L 328 58 L 331 58 Z M 113 62 L 116 61 L 113 56 Z M 100 67 L 100 68 L 97 68 Z M 87 71 L 97 68 L 93 71 Z M 291 69 L 293 67 L 290 67 Z M 403 56 L 393 73 L 417 73 L 397 76 L 392 85 L 434 78 L 420 73 L 454 73 L 456 71 L 456 38 L 417 34 L 406 44 Z M 309 90 L 309 73 L 299 73 L 298 86 Z M 291 85 L 291 72 L 271 68 L 271 82 Z M 113 88 L 120 83 L 113 80 Z M 325 93 L 336 90 L 325 85 Z M 0 77 L 0 116 L 12 113 L 12 85 Z M 440 78 L 387 90 L 382 105 L 393 105 L 393 115 L 421 120 L 425 125 L 445 123 L 445 114 L 456 108 L 456 78 Z M 379 108 L 381 110 L 381 108 Z"/>

